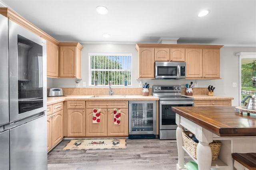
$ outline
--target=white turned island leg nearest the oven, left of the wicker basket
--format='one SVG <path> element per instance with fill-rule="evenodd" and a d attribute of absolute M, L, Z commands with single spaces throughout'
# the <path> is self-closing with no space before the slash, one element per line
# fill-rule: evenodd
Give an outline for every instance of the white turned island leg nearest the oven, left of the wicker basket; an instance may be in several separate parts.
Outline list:
<path fill-rule="evenodd" d="M 183 146 L 183 139 L 182 139 L 182 127 L 178 125 L 176 129 L 176 141 L 178 147 L 178 164 L 176 166 L 176 170 L 181 170 L 184 167 L 184 150 L 182 149 Z"/>

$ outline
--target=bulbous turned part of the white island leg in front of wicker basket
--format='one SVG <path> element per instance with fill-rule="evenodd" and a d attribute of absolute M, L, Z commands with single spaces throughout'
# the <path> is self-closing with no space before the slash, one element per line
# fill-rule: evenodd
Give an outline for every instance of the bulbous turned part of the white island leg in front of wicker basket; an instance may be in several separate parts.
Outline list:
<path fill-rule="evenodd" d="M 196 148 L 198 170 L 210 170 L 212 164 L 212 150 L 209 143 L 199 142 Z"/>

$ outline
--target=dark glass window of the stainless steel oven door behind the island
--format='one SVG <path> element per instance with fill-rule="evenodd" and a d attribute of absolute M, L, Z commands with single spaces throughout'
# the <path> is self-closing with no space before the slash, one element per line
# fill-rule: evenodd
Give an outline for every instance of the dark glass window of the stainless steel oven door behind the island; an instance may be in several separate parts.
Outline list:
<path fill-rule="evenodd" d="M 175 106 L 192 106 L 192 104 L 172 104 L 172 105 L 162 105 L 162 119 L 161 125 L 176 125 L 175 115 L 176 113 L 172 111 L 172 107 Z"/>

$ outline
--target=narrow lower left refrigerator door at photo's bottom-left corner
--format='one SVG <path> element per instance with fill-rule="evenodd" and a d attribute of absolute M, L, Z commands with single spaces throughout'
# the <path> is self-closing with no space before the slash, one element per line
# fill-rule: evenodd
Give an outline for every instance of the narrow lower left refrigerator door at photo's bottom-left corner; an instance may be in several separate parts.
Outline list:
<path fill-rule="evenodd" d="M 9 169 L 9 130 L 0 132 L 0 170 Z"/>

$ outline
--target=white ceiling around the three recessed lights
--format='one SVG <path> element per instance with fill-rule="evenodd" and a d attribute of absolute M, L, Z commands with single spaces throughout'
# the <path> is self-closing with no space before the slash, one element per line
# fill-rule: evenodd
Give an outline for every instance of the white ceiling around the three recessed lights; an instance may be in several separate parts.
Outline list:
<path fill-rule="evenodd" d="M 5 5 L 58 41 L 132 44 L 180 37 L 178 43 L 256 47 L 256 0 L 0 1 Z M 98 14 L 97 6 L 108 14 Z M 210 14 L 199 18 L 203 9 Z"/>

